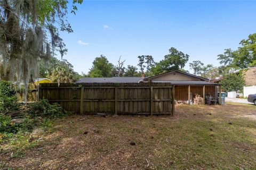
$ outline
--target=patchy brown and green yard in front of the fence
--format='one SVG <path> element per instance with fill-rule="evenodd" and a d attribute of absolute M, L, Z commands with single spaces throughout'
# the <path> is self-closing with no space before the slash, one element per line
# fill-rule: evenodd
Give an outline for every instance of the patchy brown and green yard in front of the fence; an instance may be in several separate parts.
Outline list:
<path fill-rule="evenodd" d="M 0 168 L 255 169 L 256 106 L 180 105 L 174 117 L 73 115 L 29 138 L 37 142 L 26 150 L 1 146 Z"/>

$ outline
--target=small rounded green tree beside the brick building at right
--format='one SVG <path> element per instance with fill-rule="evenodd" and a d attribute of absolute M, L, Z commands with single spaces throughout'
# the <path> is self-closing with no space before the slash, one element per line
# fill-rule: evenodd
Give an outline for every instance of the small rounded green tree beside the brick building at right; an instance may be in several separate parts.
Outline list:
<path fill-rule="evenodd" d="M 227 74 L 221 81 L 222 88 L 228 91 L 243 91 L 243 87 L 245 84 L 242 73 L 230 73 Z"/>

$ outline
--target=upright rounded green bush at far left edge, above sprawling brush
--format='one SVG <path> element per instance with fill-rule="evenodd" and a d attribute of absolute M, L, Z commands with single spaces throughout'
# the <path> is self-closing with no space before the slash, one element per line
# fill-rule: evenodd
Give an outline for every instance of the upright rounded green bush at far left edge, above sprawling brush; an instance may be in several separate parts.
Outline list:
<path fill-rule="evenodd" d="M 0 81 L 0 111 L 16 111 L 19 107 L 16 92 L 9 81 Z"/>

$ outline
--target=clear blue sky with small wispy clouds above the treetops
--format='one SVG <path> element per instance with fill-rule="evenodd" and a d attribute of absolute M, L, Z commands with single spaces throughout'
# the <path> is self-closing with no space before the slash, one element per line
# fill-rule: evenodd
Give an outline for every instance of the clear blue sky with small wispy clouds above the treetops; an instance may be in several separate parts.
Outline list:
<path fill-rule="evenodd" d="M 188 63 L 218 66 L 218 54 L 256 32 L 256 1 L 84 0 L 68 20 L 74 32 L 61 33 L 64 58 L 78 73 L 87 73 L 101 54 L 114 65 L 122 55 L 125 65 L 137 66 L 139 55 L 158 62 L 171 47 L 188 54 Z"/>

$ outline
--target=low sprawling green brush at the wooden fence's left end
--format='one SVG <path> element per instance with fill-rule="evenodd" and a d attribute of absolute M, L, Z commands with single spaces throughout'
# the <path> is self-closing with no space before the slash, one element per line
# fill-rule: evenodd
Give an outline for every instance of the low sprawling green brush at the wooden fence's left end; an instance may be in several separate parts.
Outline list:
<path fill-rule="evenodd" d="M 19 120 L 13 121 L 9 115 L 0 114 L 0 143 L 13 137 L 14 134 L 26 134 L 35 127 L 50 128 L 52 119 L 65 116 L 67 112 L 59 104 L 49 104 L 48 100 L 40 100 L 28 104 L 28 111 L 19 115 Z M 17 122 L 17 123 L 14 123 Z"/>

